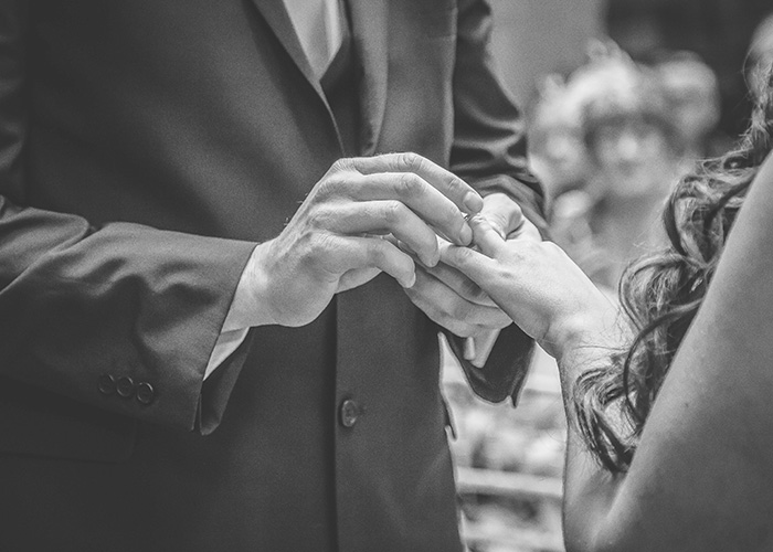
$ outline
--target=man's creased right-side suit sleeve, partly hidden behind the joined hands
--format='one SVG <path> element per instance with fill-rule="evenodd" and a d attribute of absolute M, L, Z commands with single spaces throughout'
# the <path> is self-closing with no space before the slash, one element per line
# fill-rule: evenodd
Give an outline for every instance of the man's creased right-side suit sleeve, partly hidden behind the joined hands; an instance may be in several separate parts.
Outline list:
<path fill-rule="evenodd" d="M 454 71 L 452 170 L 481 194 L 502 192 L 546 233 L 542 189 L 526 160 L 523 118 L 497 75 L 490 49 L 491 11 L 485 0 L 459 0 Z M 533 341 L 518 327 L 501 331 L 483 369 L 464 360 L 463 340 L 446 332 L 473 390 L 491 402 L 522 386 Z"/>

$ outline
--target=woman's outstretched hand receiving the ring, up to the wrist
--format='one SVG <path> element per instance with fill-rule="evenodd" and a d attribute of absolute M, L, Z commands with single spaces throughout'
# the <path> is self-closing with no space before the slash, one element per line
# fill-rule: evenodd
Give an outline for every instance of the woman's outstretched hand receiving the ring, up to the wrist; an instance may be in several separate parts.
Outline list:
<path fill-rule="evenodd" d="M 617 309 L 552 242 L 506 241 L 480 216 L 469 221 L 478 251 L 441 246 L 441 261 L 475 282 L 551 355 L 592 344 Z M 607 339 L 604 339 L 608 343 Z"/>

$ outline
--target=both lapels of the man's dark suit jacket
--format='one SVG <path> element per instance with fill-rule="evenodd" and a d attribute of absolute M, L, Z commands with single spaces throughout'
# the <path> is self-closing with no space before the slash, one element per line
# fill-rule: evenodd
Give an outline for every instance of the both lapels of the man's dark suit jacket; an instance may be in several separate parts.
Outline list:
<path fill-rule="evenodd" d="M 308 59 L 282 0 L 252 0 L 297 67 L 329 108 L 319 81 L 314 76 Z M 348 0 L 354 51 L 360 57 L 363 76 L 360 82 L 360 112 L 363 155 L 372 155 L 378 145 L 386 106 L 386 21 L 384 0 Z"/>

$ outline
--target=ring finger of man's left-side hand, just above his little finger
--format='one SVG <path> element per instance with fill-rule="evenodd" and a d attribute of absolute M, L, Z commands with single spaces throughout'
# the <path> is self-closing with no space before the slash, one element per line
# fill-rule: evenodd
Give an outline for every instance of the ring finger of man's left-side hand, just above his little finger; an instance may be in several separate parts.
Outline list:
<path fill-rule="evenodd" d="M 325 226 L 341 234 L 393 234 L 409 244 L 421 262 L 434 266 L 440 259 L 435 233 L 400 201 L 361 201 L 336 205 Z"/>

